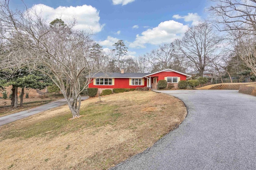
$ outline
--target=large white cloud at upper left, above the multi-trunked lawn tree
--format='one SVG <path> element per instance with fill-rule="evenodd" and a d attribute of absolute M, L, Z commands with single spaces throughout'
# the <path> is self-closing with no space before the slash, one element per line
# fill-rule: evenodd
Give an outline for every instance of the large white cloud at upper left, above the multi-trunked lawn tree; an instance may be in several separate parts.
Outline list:
<path fill-rule="evenodd" d="M 99 11 L 90 6 L 59 6 L 58 8 L 52 8 L 50 6 L 46 6 L 44 4 L 36 4 L 30 8 L 32 11 L 36 11 L 37 13 L 41 12 L 44 20 L 49 23 L 56 18 L 61 18 L 64 22 L 69 22 L 73 18 L 76 18 L 77 25 L 76 29 L 91 29 L 94 33 L 100 32 L 104 27 L 104 24 L 100 24 L 100 16 Z"/>

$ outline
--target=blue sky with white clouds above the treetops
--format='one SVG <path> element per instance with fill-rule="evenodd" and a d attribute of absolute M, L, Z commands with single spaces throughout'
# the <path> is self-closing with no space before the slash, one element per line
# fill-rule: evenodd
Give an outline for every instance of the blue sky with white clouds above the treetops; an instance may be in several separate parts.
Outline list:
<path fill-rule="evenodd" d="M 22 9 L 20 0 L 10 0 Z M 92 37 L 108 51 L 124 40 L 128 55 L 136 57 L 180 38 L 191 25 L 206 18 L 207 0 L 24 0 L 28 8 L 42 10 L 48 21 L 77 19 L 79 29 L 93 30 Z"/>

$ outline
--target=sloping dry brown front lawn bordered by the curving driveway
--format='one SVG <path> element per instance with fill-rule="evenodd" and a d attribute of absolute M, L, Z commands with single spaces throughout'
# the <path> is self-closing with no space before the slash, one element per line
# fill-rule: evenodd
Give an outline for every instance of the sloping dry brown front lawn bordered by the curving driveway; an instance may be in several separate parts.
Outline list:
<path fill-rule="evenodd" d="M 124 92 L 0 127 L 0 169 L 106 169 L 142 152 L 186 117 L 183 102 L 155 92 Z"/>

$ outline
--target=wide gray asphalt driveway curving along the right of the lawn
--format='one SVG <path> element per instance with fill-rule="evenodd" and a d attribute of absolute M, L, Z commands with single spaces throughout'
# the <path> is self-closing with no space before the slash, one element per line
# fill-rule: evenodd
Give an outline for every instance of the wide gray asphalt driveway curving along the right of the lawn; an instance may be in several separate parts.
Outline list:
<path fill-rule="evenodd" d="M 255 170 L 256 97 L 237 90 L 159 91 L 180 98 L 178 129 L 117 170 Z"/>

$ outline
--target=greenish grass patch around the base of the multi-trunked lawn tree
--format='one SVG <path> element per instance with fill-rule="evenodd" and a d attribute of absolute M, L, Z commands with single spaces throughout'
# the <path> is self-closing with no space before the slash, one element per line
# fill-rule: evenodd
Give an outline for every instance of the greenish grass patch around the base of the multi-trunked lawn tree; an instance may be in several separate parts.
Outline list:
<path fill-rule="evenodd" d="M 38 121 L 32 125 L 21 126 L 19 129 L 11 127 L 1 132 L 0 141 L 20 137 L 28 139 L 31 137 L 49 137 L 65 135 L 88 127 L 101 127 L 107 124 L 115 124 L 121 113 L 116 112 L 115 105 L 98 104 L 83 107 L 79 119 L 68 121 L 72 117 L 68 111 L 62 115 Z"/>

